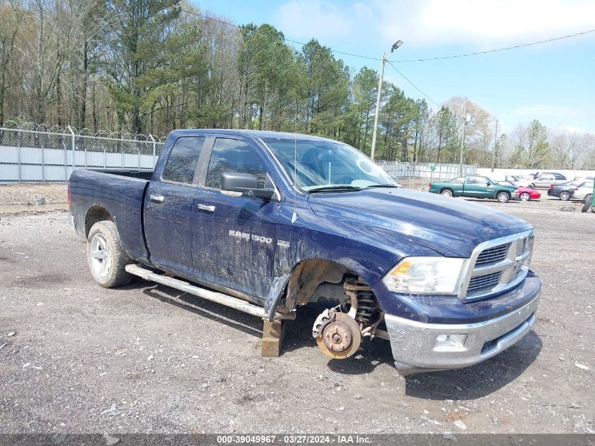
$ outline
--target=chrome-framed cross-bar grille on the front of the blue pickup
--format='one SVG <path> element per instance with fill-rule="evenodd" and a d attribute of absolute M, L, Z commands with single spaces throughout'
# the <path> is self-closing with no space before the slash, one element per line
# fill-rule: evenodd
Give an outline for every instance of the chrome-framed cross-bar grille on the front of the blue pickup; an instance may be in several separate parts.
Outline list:
<path fill-rule="evenodd" d="M 517 286 L 529 271 L 533 230 L 480 243 L 472 252 L 459 297 L 482 299 Z"/>

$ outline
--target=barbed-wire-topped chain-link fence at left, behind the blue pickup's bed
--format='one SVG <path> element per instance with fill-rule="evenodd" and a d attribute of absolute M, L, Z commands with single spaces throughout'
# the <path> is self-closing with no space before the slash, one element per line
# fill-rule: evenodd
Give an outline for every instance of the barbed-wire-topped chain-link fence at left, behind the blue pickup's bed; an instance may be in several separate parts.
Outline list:
<path fill-rule="evenodd" d="M 66 209 L 73 170 L 150 172 L 162 147 L 154 135 L 5 123 L 0 128 L 0 214 Z"/>

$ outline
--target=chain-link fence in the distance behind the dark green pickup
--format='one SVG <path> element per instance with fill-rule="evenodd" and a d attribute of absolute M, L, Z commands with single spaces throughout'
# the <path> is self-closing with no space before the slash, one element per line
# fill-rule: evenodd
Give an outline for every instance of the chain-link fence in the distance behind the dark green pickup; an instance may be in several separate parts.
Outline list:
<path fill-rule="evenodd" d="M 376 161 L 376 163 L 401 185 L 416 190 L 427 190 L 428 184 L 433 180 L 451 180 L 461 175 L 461 166 L 458 164 L 418 164 L 397 161 Z M 475 166 L 463 165 L 463 175 L 476 173 Z"/>

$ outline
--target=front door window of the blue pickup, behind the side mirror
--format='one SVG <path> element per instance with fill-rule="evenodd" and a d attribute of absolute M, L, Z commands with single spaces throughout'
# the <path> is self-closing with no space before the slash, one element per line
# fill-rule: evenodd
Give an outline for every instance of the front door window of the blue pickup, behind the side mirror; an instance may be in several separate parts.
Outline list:
<path fill-rule="evenodd" d="M 217 138 L 208 163 L 206 187 L 220 188 L 222 173 L 250 173 L 258 178 L 258 188 L 265 187 L 266 168 L 256 151 L 244 141 Z"/>

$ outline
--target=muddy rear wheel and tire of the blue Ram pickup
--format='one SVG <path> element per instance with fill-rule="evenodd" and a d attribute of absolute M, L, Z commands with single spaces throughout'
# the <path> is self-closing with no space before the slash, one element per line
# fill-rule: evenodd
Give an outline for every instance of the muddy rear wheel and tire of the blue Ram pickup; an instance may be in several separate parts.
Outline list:
<path fill-rule="evenodd" d="M 98 221 L 89 230 L 87 263 L 93 279 L 102 287 L 118 287 L 132 279 L 125 270 L 132 259 L 126 254 L 113 221 Z"/>

